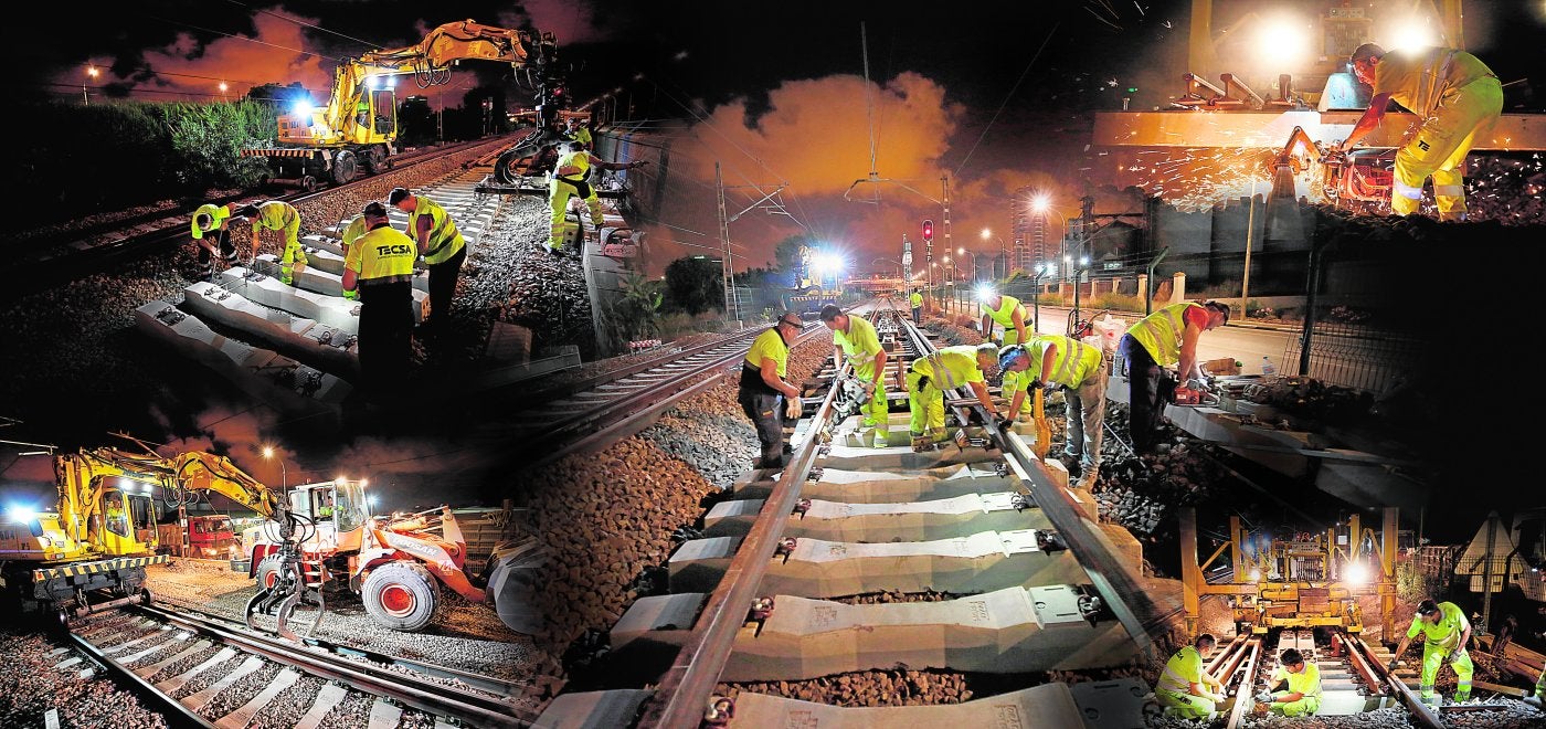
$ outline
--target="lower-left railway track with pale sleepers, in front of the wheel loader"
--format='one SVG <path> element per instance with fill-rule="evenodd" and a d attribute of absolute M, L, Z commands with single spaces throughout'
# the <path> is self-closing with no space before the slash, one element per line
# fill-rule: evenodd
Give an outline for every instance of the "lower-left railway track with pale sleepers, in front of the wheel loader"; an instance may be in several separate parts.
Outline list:
<path fill-rule="evenodd" d="M 71 625 L 74 649 L 173 726 L 527 726 L 521 684 L 326 641 L 295 645 L 221 618 L 133 607 Z M 68 661 L 68 659 L 62 659 Z"/>

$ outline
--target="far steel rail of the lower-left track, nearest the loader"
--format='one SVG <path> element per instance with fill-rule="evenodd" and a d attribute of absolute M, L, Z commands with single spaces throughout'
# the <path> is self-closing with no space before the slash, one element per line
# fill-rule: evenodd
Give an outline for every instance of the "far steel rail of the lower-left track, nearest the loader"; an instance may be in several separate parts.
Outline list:
<path fill-rule="evenodd" d="M 342 681 L 368 693 L 388 696 L 438 717 L 455 717 L 473 721 L 476 726 L 529 726 L 536 721 L 535 714 L 502 698 L 484 696 L 455 686 L 322 653 L 289 641 L 240 633 L 187 613 L 145 605 L 131 610 L 150 614 L 167 624 L 181 625 L 186 630 L 213 638 L 246 653 L 300 669 L 314 676 Z"/>

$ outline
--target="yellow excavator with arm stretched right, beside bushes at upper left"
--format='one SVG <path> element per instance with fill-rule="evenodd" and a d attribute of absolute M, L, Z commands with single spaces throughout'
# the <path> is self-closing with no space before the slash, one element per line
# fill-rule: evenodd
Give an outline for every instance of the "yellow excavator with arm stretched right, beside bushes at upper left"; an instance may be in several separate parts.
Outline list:
<path fill-rule="evenodd" d="M 345 59 L 334 71 L 326 105 L 295 102 L 278 119 L 277 144 L 246 149 L 241 156 L 267 158 L 271 178 L 295 180 L 306 190 L 322 181 L 348 183 L 362 170 L 385 170 L 397 141 L 396 79 L 413 76 L 419 88 L 448 84 L 451 68 L 462 60 L 496 60 L 527 71 L 527 84 L 538 90 L 538 115 L 555 113 L 561 85 L 549 73 L 557 63 L 553 34 L 459 20 L 430 31 L 419 43 Z"/>

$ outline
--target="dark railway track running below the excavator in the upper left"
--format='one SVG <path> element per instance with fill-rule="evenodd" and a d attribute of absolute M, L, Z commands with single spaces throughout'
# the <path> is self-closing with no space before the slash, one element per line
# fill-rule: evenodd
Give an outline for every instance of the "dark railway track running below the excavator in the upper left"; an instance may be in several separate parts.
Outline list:
<path fill-rule="evenodd" d="M 413 169 L 416 166 L 439 159 L 445 155 L 462 153 L 467 150 L 498 150 L 509 147 L 512 141 L 509 138 L 501 138 L 495 141 L 473 141 L 448 145 L 444 149 L 433 150 L 430 153 L 414 155 L 411 158 L 394 161 L 391 172 L 399 172 L 405 169 Z M 487 156 L 485 152 L 482 156 Z M 397 159 L 397 158 L 394 158 Z M 295 190 L 283 195 L 274 197 L 243 197 L 227 201 L 250 201 L 250 200 L 283 200 L 291 204 L 303 203 L 308 200 L 315 200 L 318 197 L 331 195 L 340 190 L 351 190 L 357 186 L 373 183 L 379 175 L 357 178 L 351 183 L 331 186 L 322 190 Z M 133 217 L 121 223 L 110 223 L 105 226 L 93 226 L 90 229 L 71 232 L 70 237 L 79 238 L 70 245 L 56 246 L 37 246 L 36 254 L 31 257 L 22 257 L 12 260 L 6 266 L 6 271 L 12 276 L 12 285 L 6 286 L 5 293 L 0 294 L 0 303 L 6 303 L 23 296 L 43 291 L 60 283 L 79 279 L 82 276 L 90 276 L 107 269 L 110 265 L 122 265 L 125 260 L 133 260 L 145 255 L 152 251 L 158 251 L 165 246 L 186 243 L 189 229 L 189 212 L 179 210 L 176 215 L 167 217 L 161 214 Z M 122 232 L 114 232 L 122 231 Z"/>

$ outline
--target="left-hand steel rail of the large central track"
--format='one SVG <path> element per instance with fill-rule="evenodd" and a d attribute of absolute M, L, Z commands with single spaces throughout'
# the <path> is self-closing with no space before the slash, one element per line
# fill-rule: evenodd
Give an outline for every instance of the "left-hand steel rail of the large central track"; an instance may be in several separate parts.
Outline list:
<path fill-rule="evenodd" d="M 849 365 L 843 367 L 847 370 Z M 696 727 L 702 723 L 710 696 L 719 684 L 719 675 L 730 659 L 736 633 L 747 622 L 751 602 L 759 597 L 758 590 L 782 536 L 784 517 L 795 511 L 801 488 L 816 463 L 821 450 L 818 432 L 832 418 L 836 392 L 835 387 L 827 388 L 827 396 L 812 416 L 812 436 L 795 449 L 779 474 L 773 492 L 762 503 L 756 522 L 725 568 L 719 587 L 703 602 L 691 635 L 660 678 L 654 695 L 646 700 L 635 726 L 676 729 Z"/>

